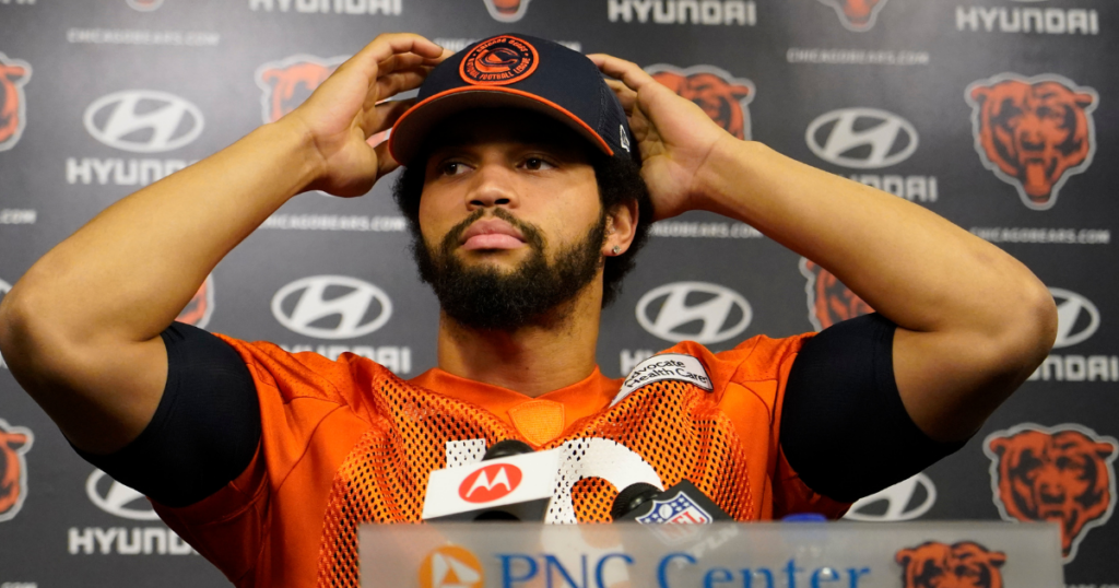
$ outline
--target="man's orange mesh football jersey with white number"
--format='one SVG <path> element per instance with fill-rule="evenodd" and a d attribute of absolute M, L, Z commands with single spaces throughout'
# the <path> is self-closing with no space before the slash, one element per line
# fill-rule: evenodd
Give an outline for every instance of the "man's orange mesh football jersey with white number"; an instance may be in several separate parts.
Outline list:
<path fill-rule="evenodd" d="M 620 488 L 605 478 L 633 468 L 664 487 L 687 478 L 740 521 L 838 517 L 849 504 L 808 488 L 779 445 L 781 399 L 809 336 L 758 336 L 717 354 L 678 344 L 665 353 L 698 358 L 712 392 L 659 381 L 618 402 L 621 380 L 598 370 L 532 399 L 440 370 L 403 381 L 350 354 L 223 337 L 256 385 L 261 445 L 216 494 L 154 506 L 238 587 L 356 588 L 358 524 L 419 521 L 430 472 L 510 438 L 564 449 L 553 522 L 609 521 Z"/>

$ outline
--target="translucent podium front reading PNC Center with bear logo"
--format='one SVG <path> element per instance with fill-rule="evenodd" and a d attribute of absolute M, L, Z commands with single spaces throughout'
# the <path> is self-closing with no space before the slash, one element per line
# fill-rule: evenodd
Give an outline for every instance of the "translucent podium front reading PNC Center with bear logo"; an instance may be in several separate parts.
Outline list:
<path fill-rule="evenodd" d="M 1061 588 L 1051 523 L 363 525 L 363 588 Z"/>

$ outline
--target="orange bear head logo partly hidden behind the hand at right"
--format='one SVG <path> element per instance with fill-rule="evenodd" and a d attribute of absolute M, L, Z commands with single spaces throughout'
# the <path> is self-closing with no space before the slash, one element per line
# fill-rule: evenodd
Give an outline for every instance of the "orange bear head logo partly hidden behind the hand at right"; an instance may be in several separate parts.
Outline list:
<path fill-rule="evenodd" d="M 750 139 L 750 110 L 754 83 L 734 77 L 718 67 L 696 65 L 679 68 L 666 64 L 645 68 L 653 80 L 695 102 L 720 127 L 739 139 Z"/>

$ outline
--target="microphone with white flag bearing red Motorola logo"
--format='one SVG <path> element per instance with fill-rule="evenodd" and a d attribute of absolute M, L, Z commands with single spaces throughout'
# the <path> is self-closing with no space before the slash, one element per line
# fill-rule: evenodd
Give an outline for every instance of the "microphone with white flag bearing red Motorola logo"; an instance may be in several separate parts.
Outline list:
<path fill-rule="evenodd" d="M 558 449 L 533 451 L 523 441 L 506 439 L 477 464 L 432 472 L 422 519 L 544 521 L 558 474 Z"/>

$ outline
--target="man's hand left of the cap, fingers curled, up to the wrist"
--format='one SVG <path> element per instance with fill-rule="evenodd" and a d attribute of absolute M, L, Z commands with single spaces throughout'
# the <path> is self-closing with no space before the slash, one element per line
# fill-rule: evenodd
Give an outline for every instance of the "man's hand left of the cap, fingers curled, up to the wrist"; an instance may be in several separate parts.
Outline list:
<path fill-rule="evenodd" d="M 284 116 L 281 123 L 307 133 L 321 160 L 308 189 L 360 196 L 396 169 L 387 143 L 373 147 L 368 140 L 389 129 L 413 101 L 385 101 L 419 87 L 449 54 L 419 35 L 380 35 Z"/>

